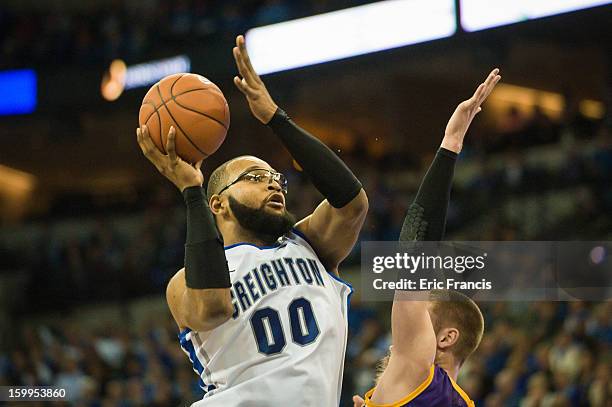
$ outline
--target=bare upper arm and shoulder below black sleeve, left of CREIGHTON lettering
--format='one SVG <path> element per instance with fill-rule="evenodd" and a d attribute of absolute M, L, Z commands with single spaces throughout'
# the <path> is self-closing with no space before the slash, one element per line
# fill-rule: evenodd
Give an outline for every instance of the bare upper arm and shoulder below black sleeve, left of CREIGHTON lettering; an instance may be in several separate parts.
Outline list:
<path fill-rule="evenodd" d="M 210 331 L 223 324 L 233 313 L 227 288 L 195 290 L 185 283 L 185 269 L 179 270 L 168 283 L 166 300 L 180 330 Z"/>

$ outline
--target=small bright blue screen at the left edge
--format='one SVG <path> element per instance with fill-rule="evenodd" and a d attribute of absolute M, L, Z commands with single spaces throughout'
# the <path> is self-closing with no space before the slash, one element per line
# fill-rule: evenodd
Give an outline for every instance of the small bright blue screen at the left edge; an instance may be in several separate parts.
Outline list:
<path fill-rule="evenodd" d="M 0 71 L 0 116 L 32 113 L 36 109 L 36 72 Z"/>

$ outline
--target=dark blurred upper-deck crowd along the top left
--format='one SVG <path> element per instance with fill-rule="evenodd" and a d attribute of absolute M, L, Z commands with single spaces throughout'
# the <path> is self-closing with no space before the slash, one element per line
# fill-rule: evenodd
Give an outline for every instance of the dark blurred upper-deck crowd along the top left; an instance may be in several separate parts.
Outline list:
<path fill-rule="evenodd" d="M 0 5 L 0 66 L 138 61 L 164 45 L 231 38 L 251 27 L 361 3 L 368 1 L 114 0 L 27 13 Z"/>

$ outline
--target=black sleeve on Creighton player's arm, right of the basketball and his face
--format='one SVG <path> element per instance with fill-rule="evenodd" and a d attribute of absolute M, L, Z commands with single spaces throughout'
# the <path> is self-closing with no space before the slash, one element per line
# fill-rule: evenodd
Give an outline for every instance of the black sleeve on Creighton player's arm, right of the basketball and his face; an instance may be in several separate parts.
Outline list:
<path fill-rule="evenodd" d="M 359 194 L 361 183 L 325 144 L 296 125 L 280 108 L 268 126 L 281 139 L 313 185 L 335 208 L 342 208 Z"/>

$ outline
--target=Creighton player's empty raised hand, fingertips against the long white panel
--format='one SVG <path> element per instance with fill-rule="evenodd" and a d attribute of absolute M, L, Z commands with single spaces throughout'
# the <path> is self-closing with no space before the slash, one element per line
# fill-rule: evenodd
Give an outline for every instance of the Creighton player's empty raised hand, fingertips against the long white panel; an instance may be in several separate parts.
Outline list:
<path fill-rule="evenodd" d="M 272 120 L 278 106 L 272 100 L 266 85 L 253 69 L 242 35 L 236 37 L 236 46 L 232 51 L 240 73 L 240 76 L 234 76 L 234 84 L 246 96 L 251 112 L 257 120 L 267 124 Z"/>

